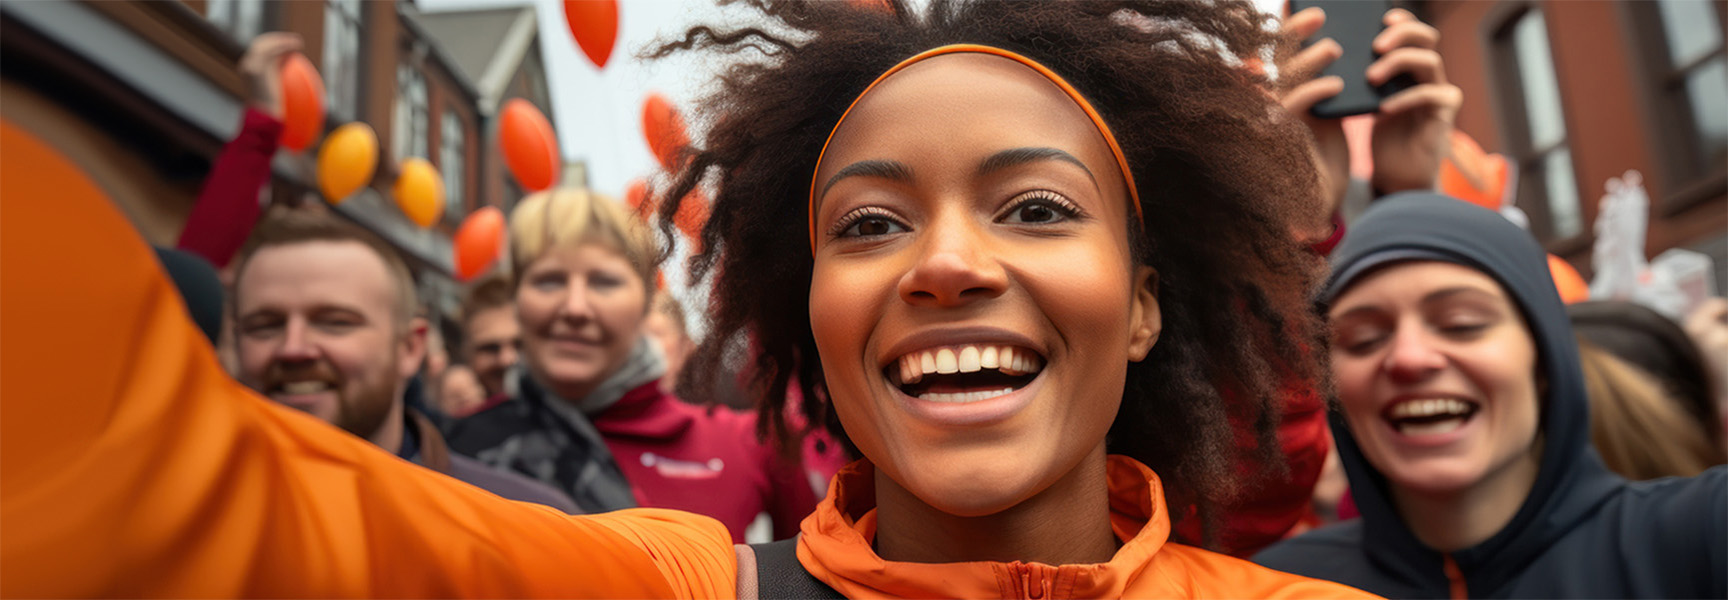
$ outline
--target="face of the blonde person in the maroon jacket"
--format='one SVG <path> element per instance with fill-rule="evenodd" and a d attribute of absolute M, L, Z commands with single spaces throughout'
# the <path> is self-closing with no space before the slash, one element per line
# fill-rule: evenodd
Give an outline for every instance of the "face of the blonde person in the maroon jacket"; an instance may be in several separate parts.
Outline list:
<path fill-rule="evenodd" d="M 629 358 L 648 313 L 648 285 L 610 246 L 555 246 L 522 270 L 517 313 L 529 370 L 575 401 Z"/>

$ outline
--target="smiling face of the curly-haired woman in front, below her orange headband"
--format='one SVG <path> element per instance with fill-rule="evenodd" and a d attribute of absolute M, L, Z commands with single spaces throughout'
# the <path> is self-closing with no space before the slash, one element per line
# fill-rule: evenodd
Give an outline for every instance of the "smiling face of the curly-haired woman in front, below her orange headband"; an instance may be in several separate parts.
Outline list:
<path fill-rule="evenodd" d="M 878 486 L 976 517 L 1102 463 L 1156 278 L 1071 99 L 1001 57 L 912 64 L 842 123 L 817 194 L 810 329 Z"/>

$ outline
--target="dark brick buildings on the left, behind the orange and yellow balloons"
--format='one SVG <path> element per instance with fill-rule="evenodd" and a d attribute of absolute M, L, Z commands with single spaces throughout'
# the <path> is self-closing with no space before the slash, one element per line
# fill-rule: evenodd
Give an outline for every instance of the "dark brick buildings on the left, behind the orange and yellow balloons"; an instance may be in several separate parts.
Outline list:
<path fill-rule="evenodd" d="M 522 10 L 534 19 L 532 9 Z M 520 197 L 496 150 L 491 121 L 506 97 L 499 90 L 530 97 L 548 118 L 551 100 L 532 35 L 515 43 L 506 86 L 496 86 L 467 73 L 423 17 L 411 2 L 394 0 L 3 2 L 0 111 L 79 161 L 147 240 L 173 244 L 211 161 L 238 130 L 240 54 L 261 31 L 295 31 L 325 81 L 325 131 L 365 121 L 378 133 L 372 185 L 335 213 L 396 244 L 422 294 L 448 311 L 456 301 L 456 223 L 482 204 Z M 537 88 L 508 86 L 534 78 Z M 314 152 L 278 152 L 264 194 L 314 199 Z M 410 156 L 444 176 L 446 214 L 430 230 L 389 201 L 397 164 Z"/>

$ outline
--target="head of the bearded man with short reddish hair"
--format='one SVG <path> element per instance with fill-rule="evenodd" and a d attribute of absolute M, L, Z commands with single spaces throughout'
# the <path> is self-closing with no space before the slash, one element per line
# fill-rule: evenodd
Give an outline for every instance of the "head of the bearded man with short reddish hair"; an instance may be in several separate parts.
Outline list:
<path fill-rule="evenodd" d="M 391 271 L 370 247 L 263 247 L 238 273 L 235 301 L 240 382 L 368 439 L 399 415 L 425 327 L 397 315 Z"/>

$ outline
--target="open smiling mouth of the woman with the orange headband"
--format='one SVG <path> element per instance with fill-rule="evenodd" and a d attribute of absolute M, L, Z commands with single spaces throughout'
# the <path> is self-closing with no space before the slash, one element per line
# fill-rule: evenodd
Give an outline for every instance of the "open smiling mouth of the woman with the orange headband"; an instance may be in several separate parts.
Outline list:
<path fill-rule="evenodd" d="M 971 403 L 1026 387 L 1044 356 L 1020 346 L 942 346 L 900 356 L 883 368 L 900 393 L 937 403 Z"/>

